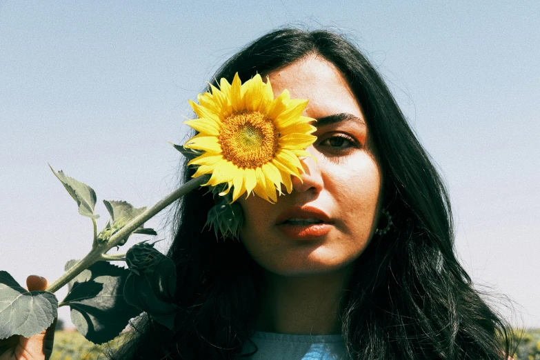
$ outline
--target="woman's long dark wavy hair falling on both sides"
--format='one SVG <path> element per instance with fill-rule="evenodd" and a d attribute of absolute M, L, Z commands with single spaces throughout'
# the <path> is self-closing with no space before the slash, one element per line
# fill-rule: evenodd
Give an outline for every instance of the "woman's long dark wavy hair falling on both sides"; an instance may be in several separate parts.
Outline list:
<path fill-rule="evenodd" d="M 510 327 L 472 286 L 454 253 L 441 177 L 368 59 L 340 34 L 270 32 L 221 66 L 212 84 L 268 74 L 303 57 L 330 61 L 361 104 L 378 150 L 383 206 L 392 231 L 370 241 L 341 303 L 352 359 L 507 359 Z M 192 170 L 186 169 L 183 181 Z M 168 256 L 177 267 L 179 314 L 170 331 L 143 317 L 114 359 L 233 359 L 254 331 L 261 269 L 239 241 L 203 230 L 214 205 L 206 189 L 178 205 Z M 202 231 L 201 231 L 202 230 Z"/>

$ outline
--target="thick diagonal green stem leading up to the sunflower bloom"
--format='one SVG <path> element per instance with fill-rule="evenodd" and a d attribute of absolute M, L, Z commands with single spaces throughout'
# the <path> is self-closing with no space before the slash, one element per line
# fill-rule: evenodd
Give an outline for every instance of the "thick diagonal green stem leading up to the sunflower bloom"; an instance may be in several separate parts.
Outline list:
<path fill-rule="evenodd" d="M 97 246 L 92 245 L 92 250 L 90 250 L 90 252 L 88 252 L 88 254 L 86 254 L 83 259 L 77 261 L 77 263 L 75 263 L 74 266 L 72 266 L 68 271 L 66 271 L 61 277 L 59 277 L 56 281 L 50 284 L 50 286 L 47 287 L 46 291 L 57 292 L 59 289 L 63 288 L 63 286 L 69 283 L 72 279 L 77 277 L 77 275 L 80 274 L 83 270 L 88 269 L 90 266 L 92 266 L 92 264 L 96 263 L 97 261 L 108 260 L 109 257 L 114 257 L 114 255 L 106 255 L 105 253 L 108 252 L 108 250 L 110 250 L 111 248 L 114 248 L 114 246 L 119 246 L 123 239 L 129 237 L 134 230 L 136 230 L 137 228 L 139 228 L 139 226 L 143 225 L 143 223 L 161 212 L 161 210 L 169 206 L 174 201 L 177 201 L 180 197 L 183 197 L 183 195 L 187 194 L 194 188 L 203 185 L 203 183 L 206 183 L 207 181 L 208 177 L 204 176 L 191 179 L 187 183 L 177 188 L 177 190 L 174 190 L 166 197 L 161 199 L 161 201 L 152 206 L 152 208 L 149 208 L 148 210 L 140 214 L 138 217 L 128 222 L 126 226 L 119 230 L 119 232 L 112 235 L 112 237 L 110 237 L 107 243 L 97 244 Z"/>

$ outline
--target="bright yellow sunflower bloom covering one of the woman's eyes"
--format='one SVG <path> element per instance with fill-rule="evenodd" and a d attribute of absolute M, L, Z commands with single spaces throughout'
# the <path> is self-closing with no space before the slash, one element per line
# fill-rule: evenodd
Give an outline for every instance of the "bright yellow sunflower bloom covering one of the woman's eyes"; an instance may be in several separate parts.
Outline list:
<path fill-rule="evenodd" d="M 303 172 L 299 157 L 309 157 L 317 139 L 314 119 L 301 116 L 308 100 L 290 99 L 288 90 L 274 99 L 270 79 L 259 74 L 243 84 L 235 74 L 232 84 L 223 78 L 210 88 L 199 104 L 190 101 L 199 119 L 185 121 L 199 132 L 185 147 L 204 151 L 188 163 L 197 166 L 193 177 L 211 174 L 204 185 L 223 184 L 222 196 L 232 188 L 232 201 L 253 191 L 274 203 L 281 184 L 290 193 L 291 176 Z"/>

